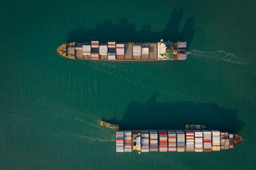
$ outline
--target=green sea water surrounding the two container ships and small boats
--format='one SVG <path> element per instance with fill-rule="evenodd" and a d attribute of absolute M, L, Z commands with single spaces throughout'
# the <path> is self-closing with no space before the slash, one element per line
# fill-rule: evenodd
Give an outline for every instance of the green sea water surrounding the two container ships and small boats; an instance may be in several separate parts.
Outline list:
<path fill-rule="evenodd" d="M 255 169 L 255 1 L 0 2 L 0 169 Z M 188 41 L 188 59 L 68 60 L 62 43 Z M 122 129 L 201 123 L 244 142 L 116 153 Z"/>

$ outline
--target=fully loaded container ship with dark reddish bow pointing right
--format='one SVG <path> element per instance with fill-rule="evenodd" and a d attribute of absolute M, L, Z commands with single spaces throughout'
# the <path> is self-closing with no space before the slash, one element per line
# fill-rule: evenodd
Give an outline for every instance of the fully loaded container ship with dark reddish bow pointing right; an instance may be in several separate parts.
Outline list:
<path fill-rule="evenodd" d="M 241 136 L 234 133 L 186 127 L 188 129 L 116 131 L 116 152 L 212 152 L 234 148 L 243 142 Z"/>

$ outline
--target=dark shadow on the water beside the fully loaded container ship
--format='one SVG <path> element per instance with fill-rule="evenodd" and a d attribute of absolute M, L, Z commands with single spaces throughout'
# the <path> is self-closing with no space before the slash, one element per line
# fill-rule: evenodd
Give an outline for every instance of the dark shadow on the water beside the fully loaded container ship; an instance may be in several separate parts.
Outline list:
<path fill-rule="evenodd" d="M 244 127 L 244 123 L 237 118 L 237 111 L 218 104 L 158 103 L 156 96 L 150 97 L 145 104 L 137 101 L 129 103 L 121 120 L 104 120 L 119 124 L 122 130 L 185 129 L 186 124 L 205 124 L 211 129 L 237 133 Z"/>

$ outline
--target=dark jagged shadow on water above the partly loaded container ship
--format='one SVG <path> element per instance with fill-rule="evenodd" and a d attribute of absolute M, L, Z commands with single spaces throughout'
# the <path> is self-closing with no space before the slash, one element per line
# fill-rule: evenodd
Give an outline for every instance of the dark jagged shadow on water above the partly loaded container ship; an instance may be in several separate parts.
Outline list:
<path fill-rule="evenodd" d="M 97 24 L 94 29 L 77 28 L 68 32 L 67 43 L 83 43 L 87 41 L 99 40 L 118 41 L 118 42 L 156 42 L 160 39 L 164 41 L 187 41 L 187 49 L 195 33 L 195 18 L 188 18 L 180 29 L 180 22 L 184 10 L 173 10 L 166 25 L 163 25 L 163 31 L 152 32 L 150 25 L 144 25 L 141 30 L 136 31 L 136 25 L 124 18 L 118 24 L 113 24 L 111 20 L 106 20 L 102 24 Z M 156 21 L 157 22 L 157 21 Z"/>

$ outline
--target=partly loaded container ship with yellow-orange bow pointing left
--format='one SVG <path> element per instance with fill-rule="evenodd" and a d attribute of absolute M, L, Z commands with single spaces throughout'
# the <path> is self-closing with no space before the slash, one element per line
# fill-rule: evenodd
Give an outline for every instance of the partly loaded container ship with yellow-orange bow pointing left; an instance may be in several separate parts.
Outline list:
<path fill-rule="evenodd" d="M 156 43 L 67 43 L 59 46 L 56 52 L 62 57 L 78 60 L 186 60 L 186 41 L 172 43 L 163 39 Z"/>

